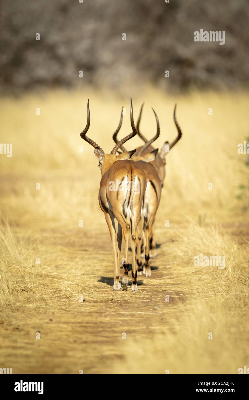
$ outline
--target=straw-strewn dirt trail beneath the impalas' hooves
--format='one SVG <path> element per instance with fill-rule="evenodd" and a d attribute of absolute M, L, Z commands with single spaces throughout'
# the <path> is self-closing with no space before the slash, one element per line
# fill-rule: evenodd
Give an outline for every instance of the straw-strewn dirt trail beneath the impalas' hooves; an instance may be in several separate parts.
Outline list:
<path fill-rule="evenodd" d="M 0 325 L 4 358 L 14 373 L 105 373 L 114 358 L 129 350 L 130 338 L 151 338 L 170 328 L 169 315 L 177 314 L 193 296 L 168 262 L 166 246 L 151 260 L 151 278 L 139 277 L 138 292 L 131 292 L 131 282 L 127 291 L 114 292 L 106 228 L 88 231 L 84 244 L 79 242 L 79 230 L 34 234 L 41 260 L 50 261 L 51 276 L 42 284 L 42 298 L 15 304 L 14 314 Z M 165 295 L 170 302 L 165 302 Z"/>

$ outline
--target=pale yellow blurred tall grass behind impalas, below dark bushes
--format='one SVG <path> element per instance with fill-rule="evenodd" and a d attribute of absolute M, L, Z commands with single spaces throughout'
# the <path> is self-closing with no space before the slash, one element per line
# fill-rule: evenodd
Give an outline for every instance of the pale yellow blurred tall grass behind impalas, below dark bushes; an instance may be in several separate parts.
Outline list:
<path fill-rule="evenodd" d="M 127 114 L 119 136 L 131 129 L 129 99 L 109 96 L 106 99 L 104 93 L 91 91 L 85 95 L 62 91 L 0 100 L 1 141 L 13 143 L 13 156 L 0 156 L 4 216 L 12 216 L 20 207 L 19 214 L 27 220 L 33 210 L 37 218 L 60 219 L 64 215 L 71 219 L 70 210 L 79 209 L 82 204 L 89 211 L 96 205 L 100 181 L 98 162 L 93 148 L 79 136 L 86 124 L 88 97 L 89 136 L 105 152 L 110 152 L 122 104 Z M 231 98 L 228 94 L 196 93 L 176 98 L 148 89 L 141 98 L 133 99 L 135 116 L 143 100 L 146 103 L 141 130 L 145 136 L 151 137 L 155 132 L 149 106 L 159 116 L 161 136 L 155 146 L 160 148 L 165 140 L 173 140 L 176 135 L 172 118 L 175 101 L 183 130 L 183 138 L 167 156 L 161 206 L 171 208 L 173 204 L 178 212 L 187 214 L 191 210 L 200 214 L 207 210 L 217 218 L 224 209 L 226 214 L 248 216 L 247 155 L 237 153 L 237 144 L 248 135 L 247 95 L 233 94 Z M 36 115 L 38 107 L 40 115 Z M 213 115 L 208 114 L 210 107 Z M 127 148 L 139 144 L 141 140 L 135 137 L 127 143 Z M 79 152 L 79 146 L 83 146 L 83 152 Z M 36 182 L 41 184 L 40 191 L 36 190 Z M 25 215 L 25 206 L 28 215 Z"/>

